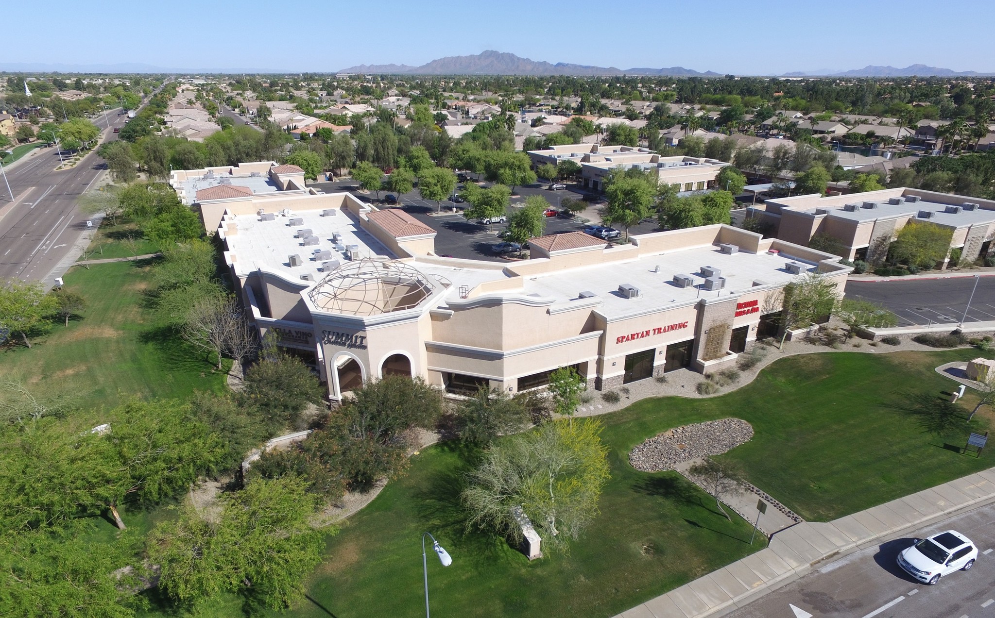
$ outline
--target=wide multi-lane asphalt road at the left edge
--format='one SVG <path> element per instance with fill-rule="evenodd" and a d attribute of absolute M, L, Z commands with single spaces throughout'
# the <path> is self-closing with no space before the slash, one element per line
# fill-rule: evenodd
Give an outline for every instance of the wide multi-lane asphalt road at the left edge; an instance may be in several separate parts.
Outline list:
<path fill-rule="evenodd" d="M 110 128 L 102 115 L 95 123 L 107 140 L 116 139 L 111 129 L 123 126 L 127 116 L 108 111 L 106 119 Z M 79 212 L 77 199 L 106 164 L 92 151 L 72 169 L 56 171 L 59 165 L 58 150 L 43 147 L 7 170 L 14 201 L 7 187 L 0 187 L 0 211 L 5 213 L 0 219 L 0 280 L 44 279 L 86 229 L 88 217 Z"/>

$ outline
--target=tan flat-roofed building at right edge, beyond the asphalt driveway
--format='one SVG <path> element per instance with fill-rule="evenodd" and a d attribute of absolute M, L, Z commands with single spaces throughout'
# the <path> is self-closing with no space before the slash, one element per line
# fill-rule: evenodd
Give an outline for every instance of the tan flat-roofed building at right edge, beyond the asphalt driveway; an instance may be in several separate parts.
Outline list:
<path fill-rule="evenodd" d="M 839 240 L 843 257 L 872 264 L 885 259 L 912 221 L 949 229 L 950 248 L 960 248 L 961 259 L 970 261 L 987 255 L 995 236 L 995 201 L 920 189 L 777 198 L 752 210 L 777 227 L 778 238 L 808 245 L 813 235 L 826 234 Z"/>

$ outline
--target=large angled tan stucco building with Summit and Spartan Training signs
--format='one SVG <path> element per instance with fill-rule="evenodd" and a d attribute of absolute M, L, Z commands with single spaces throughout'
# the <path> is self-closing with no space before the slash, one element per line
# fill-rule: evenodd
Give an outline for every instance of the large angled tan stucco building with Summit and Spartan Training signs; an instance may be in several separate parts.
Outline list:
<path fill-rule="evenodd" d="M 515 392 L 572 366 L 609 388 L 690 368 L 711 372 L 776 334 L 780 291 L 839 258 L 727 226 L 611 244 L 534 238 L 522 261 L 435 254 L 435 232 L 347 193 L 215 202 L 205 222 L 260 331 L 312 362 L 338 399 L 402 373 L 452 393 Z M 217 225 L 213 213 L 222 209 Z"/>

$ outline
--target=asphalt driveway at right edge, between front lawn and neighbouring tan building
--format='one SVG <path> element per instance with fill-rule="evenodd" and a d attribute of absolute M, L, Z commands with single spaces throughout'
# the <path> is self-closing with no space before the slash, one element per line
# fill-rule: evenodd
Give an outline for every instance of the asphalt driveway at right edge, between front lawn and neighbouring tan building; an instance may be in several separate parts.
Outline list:
<path fill-rule="evenodd" d="M 957 325 L 964 317 L 974 277 L 848 281 L 847 298 L 881 303 L 898 316 L 898 326 Z M 978 277 L 965 322 L 995 320 L 995 276 Z"/>

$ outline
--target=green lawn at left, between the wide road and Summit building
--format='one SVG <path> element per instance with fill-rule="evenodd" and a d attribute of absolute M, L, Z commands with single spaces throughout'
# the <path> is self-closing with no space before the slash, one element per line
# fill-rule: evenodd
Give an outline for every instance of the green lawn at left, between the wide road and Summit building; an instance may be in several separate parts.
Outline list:
<path fill-rule="evenodd" d="M 76 266 L 66 287 L 87 299 L 82 318 L 69 327 L 57 322 L 36 338 L 34 347 L 0 349 L 0 375 L 20 372 L 32 383 L 68 387 L 80 393 L 81 407 L 112 406 L 130 396 L 186 397 L 199 390 L 220 390 L 202 354 L 189 349 L 157 323 L 144 290 L 148 262 Z"/>

